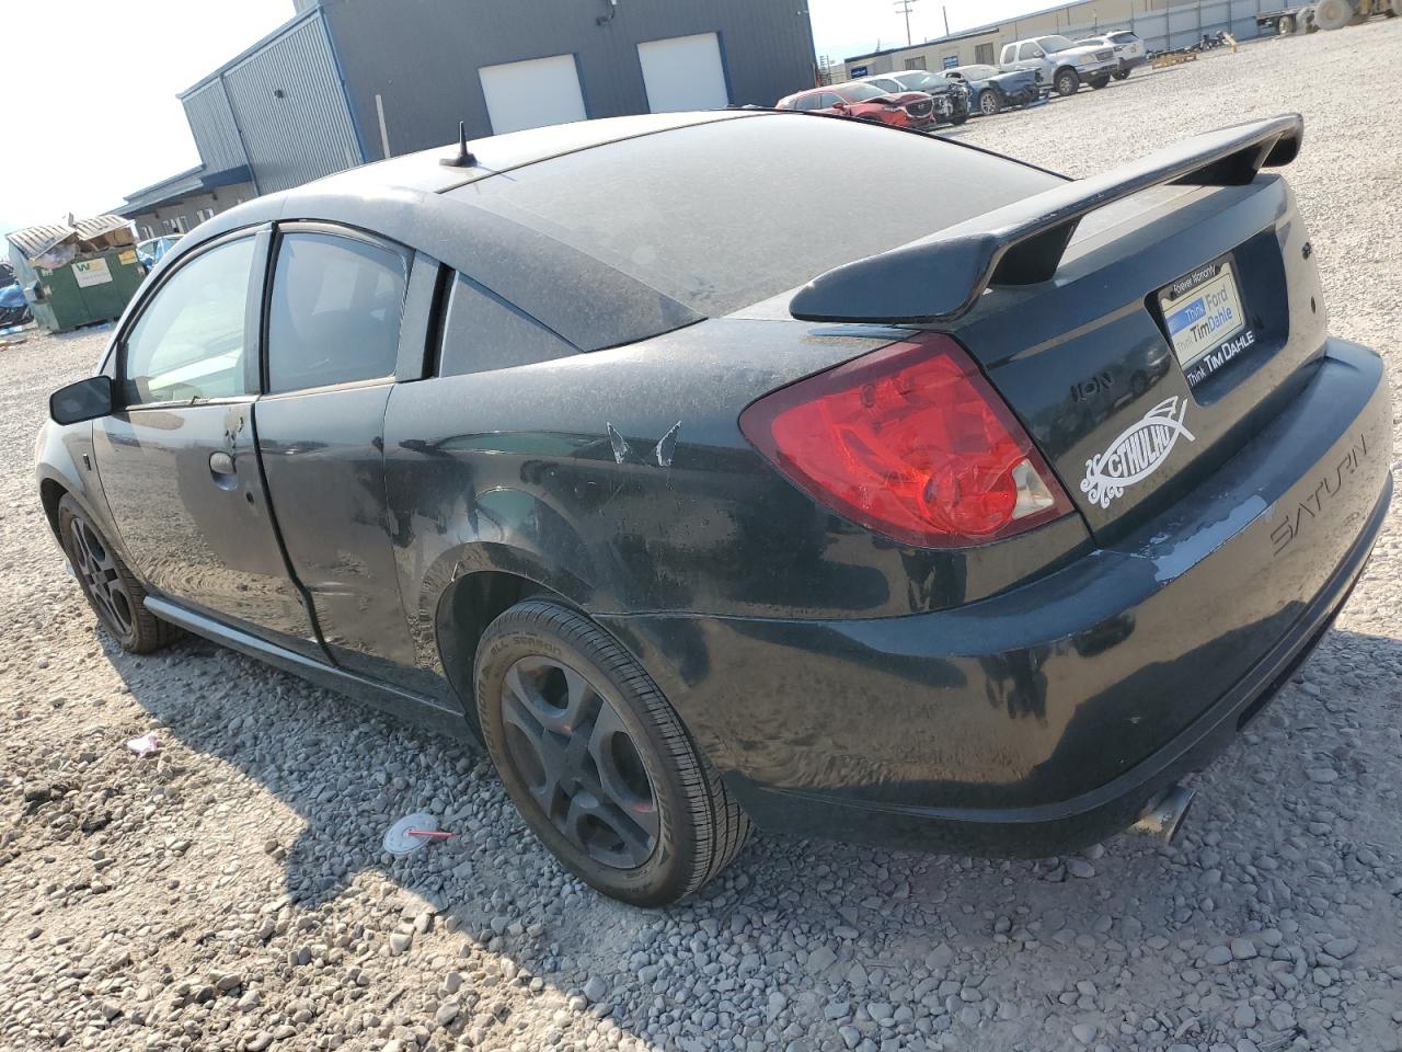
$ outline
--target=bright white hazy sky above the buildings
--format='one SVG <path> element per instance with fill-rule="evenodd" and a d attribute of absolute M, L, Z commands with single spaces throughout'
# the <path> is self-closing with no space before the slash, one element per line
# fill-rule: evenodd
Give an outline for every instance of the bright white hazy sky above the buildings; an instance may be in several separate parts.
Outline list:
<path fill-rule="evenodd" d="M 808 4 L 819 55 L 840 62 L 878 42 L 906 42 L 906 21 L 892 0 Z M 911 36 L 942 35 L 944 8 L 959 32 L 1047 4 L 914 0 Z M 38 0 L 4 7 L 0 83 L 10 126 L 0 136 L 0 233 L 59 222 L 67 212 L 98 215 L 195 167 L 199 154 L 175 94 L 294 14 L 292 0 Z"/>

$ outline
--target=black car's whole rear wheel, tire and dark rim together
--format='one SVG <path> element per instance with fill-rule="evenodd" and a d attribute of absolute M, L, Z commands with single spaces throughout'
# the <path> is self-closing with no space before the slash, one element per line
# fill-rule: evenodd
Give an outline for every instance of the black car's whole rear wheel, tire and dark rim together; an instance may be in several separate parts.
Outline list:
<path fill-rule="evenodd" d="M 477 649 L 482 741 L 512 802 L 604 895 L 665 906 L 739 854 L 750 822 L 648 672 L 579 610 L 527 599 Z"/>

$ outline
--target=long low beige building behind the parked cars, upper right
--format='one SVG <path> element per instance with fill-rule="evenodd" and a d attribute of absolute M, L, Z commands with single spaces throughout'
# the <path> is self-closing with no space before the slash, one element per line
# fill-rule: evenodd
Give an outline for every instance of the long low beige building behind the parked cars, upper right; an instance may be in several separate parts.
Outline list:
<path fill-rule="evenodd" d="M 990 22 L 910 48 L 855 55 L 844 63 L 843 79 L 904 69 L 951 69 L 994 65 L 1004 43 L 1028 36 L 1060 34 L 1078 39 L 1110 29 L 1133 29 L 1150 50 L 1185 48 L 1203 34 L 1230 32 L 1237 39 L 1256 35 L 1256 15 L 1277 11 L 1281 0 L 1075 0 L 1044 11 Z"/>

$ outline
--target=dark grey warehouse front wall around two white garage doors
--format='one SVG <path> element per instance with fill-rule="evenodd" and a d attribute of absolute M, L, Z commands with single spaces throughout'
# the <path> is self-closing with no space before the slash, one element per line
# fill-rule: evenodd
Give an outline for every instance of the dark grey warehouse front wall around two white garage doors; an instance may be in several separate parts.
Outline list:
<path fill-rule="evenodd" d="M 376 95 L 390 151 L 450 142 L 457 122 L 491 135 L 477 70 L 575 55 L 589 116 L 648 112 L 638 43 L 716 32 L 730 102 L 774 105 L 813 83 L 802 0 L 322 0 L 350 108 L 381 154 Z M 597 20 L 613 17 L 600 24 Z"/>

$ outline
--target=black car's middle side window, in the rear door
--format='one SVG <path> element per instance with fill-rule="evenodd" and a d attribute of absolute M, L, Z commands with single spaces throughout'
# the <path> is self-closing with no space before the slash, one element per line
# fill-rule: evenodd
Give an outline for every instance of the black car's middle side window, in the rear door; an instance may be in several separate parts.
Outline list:
<path fill-rule="evenodd" d="M 408 265 L 355 237 L 283 234 L 268 306 L 268 391 L 394 375 Z"/>

